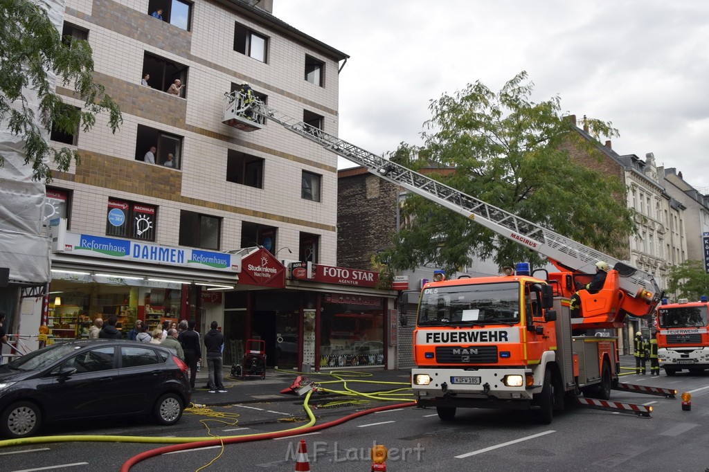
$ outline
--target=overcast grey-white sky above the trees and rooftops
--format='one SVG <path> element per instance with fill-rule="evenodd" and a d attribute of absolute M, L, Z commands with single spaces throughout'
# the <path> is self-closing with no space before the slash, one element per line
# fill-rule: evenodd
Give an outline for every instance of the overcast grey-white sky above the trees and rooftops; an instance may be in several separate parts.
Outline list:
<path fill-rule="evenodd" d="M 370 152 L 422 144 L 430 100 L 525 70 L 532 101 L 612 122 L 616 152 L 653 152 L 709 193 L 709 1 L 274 0 L 273 13 L 350 56 L 338 135 Z"/>

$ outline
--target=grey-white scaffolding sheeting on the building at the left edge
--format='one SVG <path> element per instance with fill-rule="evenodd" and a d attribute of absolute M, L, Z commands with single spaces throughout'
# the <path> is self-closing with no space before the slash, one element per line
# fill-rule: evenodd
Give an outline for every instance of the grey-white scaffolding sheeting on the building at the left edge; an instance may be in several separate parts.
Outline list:
<path fill-rule="evenodd" d="M 55 28 L 61 31 L 64 1 L 33 1 L 43 4 Z M 48 72 L 48 79 L 50 84 L 56 83 L 52 72 Z M 35 91 L 28 88 L 23 95 L 38 116 Z M 43 137 L 49 140 L 45 130 Z M 6 121 L 0 122 L 0 154 L 4 158 L 0 169 L 0 267 L 10 269 L 10 283 L 40 285 L 50 280 L 51 241 L 43 231 L 47 193 L 42 182 L 32 180 L 32 164 L 25 164 L 24 145 L 22 136 L 10 133 Z"/>

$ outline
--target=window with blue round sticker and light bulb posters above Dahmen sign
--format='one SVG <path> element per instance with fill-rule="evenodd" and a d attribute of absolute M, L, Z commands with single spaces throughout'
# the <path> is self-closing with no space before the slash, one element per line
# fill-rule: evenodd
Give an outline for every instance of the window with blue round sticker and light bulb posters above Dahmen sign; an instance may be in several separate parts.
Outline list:
<path fill-rule="evenodd" d="M 108 198 L 106 235 L 155 241 L 156 215 L 156 206 Z"/>

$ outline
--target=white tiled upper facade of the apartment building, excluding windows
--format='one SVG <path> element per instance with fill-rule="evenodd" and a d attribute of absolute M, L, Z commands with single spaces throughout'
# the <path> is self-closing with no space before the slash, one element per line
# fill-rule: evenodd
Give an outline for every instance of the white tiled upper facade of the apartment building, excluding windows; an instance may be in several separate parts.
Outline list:
<path fill-rule="evenodd" d="M 230 91 L 232 83 L 245 80 L 257 93 L 267 95 L 272 108 L 298 120 L 303 119 L 303 110 L 317 113 L 325 118 L 323 129 L 337 135 L 337 70 L 338 61 L 344 58 L 341 52 L 292 28 L 289 35 L 281 33 L 288 29 L 284 23 L 274 27 L 275 20 L 269 21 L 268 14 L 263 20 L 263 11 L 247 16 L 245 10 L 251 7 L 238 0 L 196 1 L 191 6 L 189 32 L 151 18 L 147 1 L 67 0 L 66 7 L 65 21 L 89 30 L 99 82 L 101 77 L 110 77 L 115 82 L 112 90 L 122 90 L 123 86 L 128 90 L 123 96 L 115 95 L 123 111 L 120 130 L 111 134 L 107 116 L 99 116 L 90 133 L 79 134 L 79 152 L 126 159 L 131 166 L 150 166 L 135 160 L 140 152 L 136 150 L 138 125 L 184 137 L 180 169 L 175 171 L 182 174 L 181 188 L 174 189 L 175 193 L 167 198 L 150 194 L 151 187 L 155 188 L 152 179 L 145 179 L 145 192 L 135 193 L 122 191 L 120 186 L 79 183 L 71 178 L 76 172 L 73 166 L 69 177 L 57 174 L 52 186 L 72 190 L 71 231 L 104 235 L 108 198 L 124 198 L 158 207 L 155 243 L 160 245 L 179 245 L 180 210 L 191 210 L 222 218 L 221 251 L 241 247 L 242 223 L 250 222 L 277 227 L 276 249 L 290 247 L 294 253 L 301 232 L 319 235 L 316 262 L 335 265 L 337 156 L 274 122 L 247 133 L 224 125 L 221 120 L 224 93 Z M 138 28 L 136 34 L 125 28 L 131 13 L 147 25 Z M 111 26 L 112 15 L 118 15 L 116 28 Z M 235 22 L 268 38 L 267 62 L 233 49 Z M 279 22 L 275 24 L 278 26 Z M 151 34 L 153 27 L 155 37 Z M 171 50 L 167 46 L 175 44 L 173 33 L 178 40 L 188 38 L 189 50 Z M 189 67 L 186 99 L 163 91 L 148 92 L 166 103 L 186 102 L 177 103 L 186 106 L 184 117 L 177 117 L 178 122 L 184 118 L 184 125 L 175 125 L 170 120 L 174 117 L 164 116 L 164 111 L 156 110 L 155 116 L 150 111 L 130 113 L 132 106 L 140 107 L 130 96 L 130 89 L 140 84 L 145 52 Z M 304 79 L 306 54 L 324 62 L 324 86 Z M 262 189 L 226 180 L 228 150 L 264 159 Z M 319 202 L 301 198 L 303 170 L 322 176 Z M 123 178 L 116 175 L 115 181 Z"/>

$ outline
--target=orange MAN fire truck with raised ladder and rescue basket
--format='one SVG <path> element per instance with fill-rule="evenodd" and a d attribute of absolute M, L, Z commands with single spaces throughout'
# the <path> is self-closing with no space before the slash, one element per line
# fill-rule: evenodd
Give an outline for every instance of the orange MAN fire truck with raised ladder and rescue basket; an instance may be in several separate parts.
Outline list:
<path fill-rule="evenodd" d="M 266 120 L 366 168 L 381 179 L 428 198 L 547 257 L 559 271 L 506 269 L 498 277 L 446 280 L 436 274 L 420 294 L 413 333 L 412 388 L 420 406 L 441 420 L 457 408 L 532 411 L 552 421 L 566 396 L 608 400 L 620 361 L 614 337 L 574 336 L 622 327 L 626 315 L 654 313 L 661 290 L 652 274 L 491 206 L 428 176 L 379 157 L 261 101 L 225 94 L 223 123 L 245 131 Z M 611 269 L 598 293 L 580 290 L 581 310 L 569 299 L 590 281 L 599 261 Z"/>

